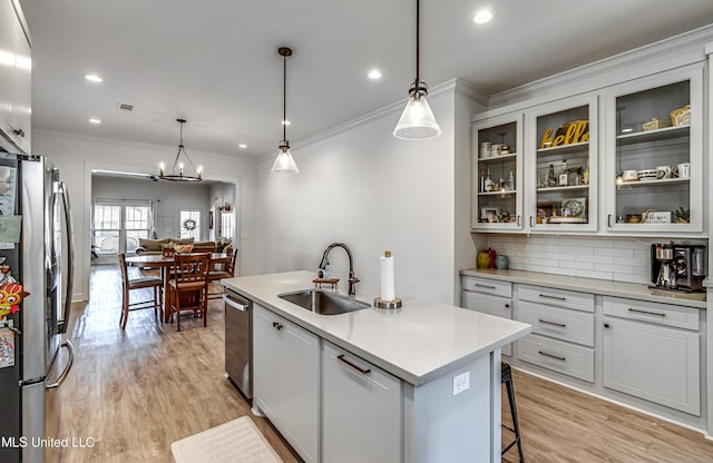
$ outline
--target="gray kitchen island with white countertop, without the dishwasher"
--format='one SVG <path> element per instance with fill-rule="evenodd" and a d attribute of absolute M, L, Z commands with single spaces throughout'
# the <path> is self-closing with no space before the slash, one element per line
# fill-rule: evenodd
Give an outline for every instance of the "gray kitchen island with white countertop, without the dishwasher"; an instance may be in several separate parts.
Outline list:
<path fill-rule="evenodd" d="M 256 413 L 271 418 L 305 461 L 500 461 L 500 348 L 529 333 L 528 324 L 409 297 L 399 309 L 341 315 L 279 297 L 313 287 L 314 277 L 290 272 L 222 280 L 253 303 Z M 368 303 L 378 296 L 364 286 L 356 293 Z M 272 342 L 271 327 L 291 336 Z M 283 376 L 267 378 L 276 370 Z M 390 388 L 393 395 L 381 394 Z M 372 401 L 372 393 L 387 402 Z M 374 445 L 374 454 L 353 454 Z"/>

